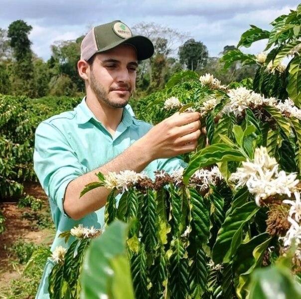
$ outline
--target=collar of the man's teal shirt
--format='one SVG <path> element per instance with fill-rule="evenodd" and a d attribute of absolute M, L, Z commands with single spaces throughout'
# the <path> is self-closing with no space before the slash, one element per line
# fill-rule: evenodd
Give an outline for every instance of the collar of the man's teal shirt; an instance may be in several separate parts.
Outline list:
<path fill-rule="evenodd" d="M 86 96 L 83 97 L 80 104 L 78 104 L 74 110 L 76 111 L 76 123 L 85 124 L 89 122 L 92 118 L 99 122 L 92 111 L 89 109 L 86 103 Z M 127 127 L 130 127 L 132 124 L 139 126 L 139 122 L 131 115 L 127 108 L 123 109 L 122 120 Z"/>

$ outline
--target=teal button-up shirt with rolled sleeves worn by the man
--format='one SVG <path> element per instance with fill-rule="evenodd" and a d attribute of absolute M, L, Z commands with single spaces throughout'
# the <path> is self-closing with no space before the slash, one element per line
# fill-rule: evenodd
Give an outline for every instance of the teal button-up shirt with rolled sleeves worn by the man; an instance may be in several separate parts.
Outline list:
<path fill-rule="evenodd" d="M 41 122 L 35 132 L 33 153 L 34 171 L 48 196 L 51 216 L 56 234 L 51 246 L 53 251 L 66 244 L 59 238 L 61 232 L 70 230 L 78 224 L 96 228 L 104 226 L 105 207 L 94 211 L 80 220 L 71 219 L 63 208 L 67 185 L 75 178 L 90 172 L 122 153 L 135 141 L 143 137 L 152 127 L 151 124 L 137 120 L 131 107 L 123 110 L 122 121 L 112 137 L 88 108 L 85 97 L 73 111 L 63 112 Z M 185 167 L 178 157 L 153 160 L 144 171 L 154 178 L 153 171 L 164 169 L 167 172 Z M 98 181 L 95 176 L 95 181 Z M 36 298 L 49 298 L 48 275 L 53 263 L 48 259 Z"/>

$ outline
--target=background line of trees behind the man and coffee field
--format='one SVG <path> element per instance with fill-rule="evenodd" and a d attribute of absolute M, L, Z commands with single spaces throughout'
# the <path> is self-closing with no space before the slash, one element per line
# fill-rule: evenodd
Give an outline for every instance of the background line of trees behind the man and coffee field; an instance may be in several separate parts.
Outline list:
<path fill-rule="evenodd" d="M 84 81 L 77 73 L 80 44 L 84 35 L 74 40 L 60 40 L 51 45 L 47 61 L 31 49 L 32 26 L 23 20 L 0 28 L 0 94 L 43 96 L 79 96 L 85 93 Z M 189 34 L 156 23 L 141 22 L 133 26 L 134 34 L 142 34 L 154 44 L 154 55 L 139 62 L 136 96 L 145 96 L 162 88 L 170 76 L 190 69 L 200 74 L 210 72 L 224 84 L 254 75 L 253 66 L 239 63 L 224 69 L 219 57 L 209 57 L 208 49 Z M 225 46 L 220 54 L 234 49 Z"/>

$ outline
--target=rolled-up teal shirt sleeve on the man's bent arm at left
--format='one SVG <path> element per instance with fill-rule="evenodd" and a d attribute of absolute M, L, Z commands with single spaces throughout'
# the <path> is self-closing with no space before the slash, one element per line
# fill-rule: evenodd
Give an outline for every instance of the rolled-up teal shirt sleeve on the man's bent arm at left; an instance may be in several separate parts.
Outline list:
<path fill-rule="evenodd" d="M 50 123 L 40 123 L 35 131 L 33 168 L 47 196 L 69 217 L 63 208 L 65 190 L 85 171 L 66 137 Z"/>

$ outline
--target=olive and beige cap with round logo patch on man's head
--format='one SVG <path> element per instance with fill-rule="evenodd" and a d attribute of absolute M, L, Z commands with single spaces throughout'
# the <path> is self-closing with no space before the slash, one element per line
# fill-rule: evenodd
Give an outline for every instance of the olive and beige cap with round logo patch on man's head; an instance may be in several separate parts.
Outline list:
<path fill-rule="evenodd" d="M 120 44 L 130 44 L 137 50 L 137 59 L 152 56 L 154 47 L 151 40 L 142 35 L 133 35 L 131 29 L 122 21 L 93 27 L 81 43 L 81 59 L 89 60 L 94 54 L 110 50 Z"/>

